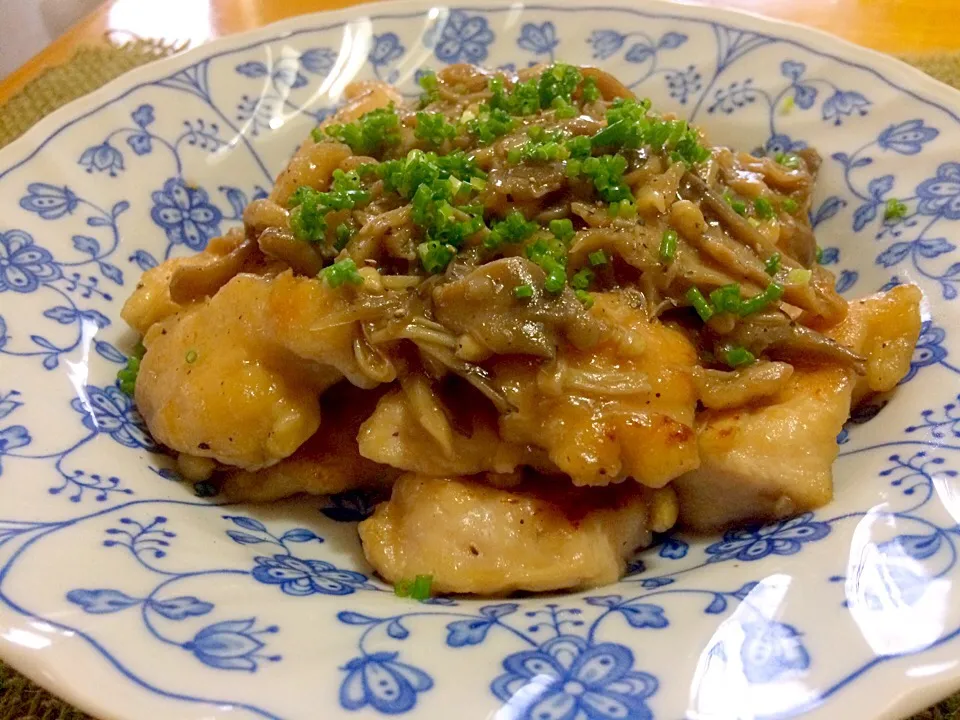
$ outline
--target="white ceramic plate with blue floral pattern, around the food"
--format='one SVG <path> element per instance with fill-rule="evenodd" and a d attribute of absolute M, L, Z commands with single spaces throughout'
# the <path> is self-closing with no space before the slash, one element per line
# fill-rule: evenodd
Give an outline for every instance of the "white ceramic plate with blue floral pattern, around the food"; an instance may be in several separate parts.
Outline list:
<path fill-rule="evenodd" d="M 834 502 L 670 538 L 593 592 L 418 604 L 368 577 L 362 498 L 227 508 L 171 481 L 114 387 L 138 274 L 236 223 L 355 77 L 555 58 L 714 141 L 817 147 L 841 289 L 923 288 L 909 382 L 838 438 Z M 958 111 L 799 27 L 553 0 L 297 18 L 55 113 L 0 153 L 0 655 L 104 720 L 895 718 L 955 690 Z"/>

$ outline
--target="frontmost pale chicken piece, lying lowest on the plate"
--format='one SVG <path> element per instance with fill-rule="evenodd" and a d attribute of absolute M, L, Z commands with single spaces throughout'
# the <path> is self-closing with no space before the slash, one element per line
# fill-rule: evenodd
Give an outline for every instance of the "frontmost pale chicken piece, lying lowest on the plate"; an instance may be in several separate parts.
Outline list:
<path fill-rule="evenodd" d="M 618 580 L 651 533 L 676 520 L 669 488 L 525 487 L 404 475 L 360 523 L 367 560 L 394 583 L 432 575 L 439 593 L 588 588 Z"/>

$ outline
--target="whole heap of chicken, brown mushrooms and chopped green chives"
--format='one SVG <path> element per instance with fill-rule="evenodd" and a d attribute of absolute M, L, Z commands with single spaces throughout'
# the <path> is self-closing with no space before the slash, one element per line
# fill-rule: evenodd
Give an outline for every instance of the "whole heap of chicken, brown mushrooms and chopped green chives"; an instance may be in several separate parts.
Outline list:
<path fill-rule="evenodd" d="M 420 84 L 352 85 L 243 228 L 127 300 L 121 387 L 181 473 L 379 491 L 363 548 L 414 597 L 608 583 L 678 519 L 828 502 L 921 295 L 837 294 L 817 153 L 711 146 L 596 68 Z"/>

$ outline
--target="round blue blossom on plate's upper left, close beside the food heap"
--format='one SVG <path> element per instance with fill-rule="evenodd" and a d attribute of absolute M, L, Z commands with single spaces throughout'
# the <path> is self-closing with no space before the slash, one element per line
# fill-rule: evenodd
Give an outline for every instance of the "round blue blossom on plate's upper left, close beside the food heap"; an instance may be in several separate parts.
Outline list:
<path fill-rule="evenodd" d="M 174 245 L 202 250 L 210 238 L 220 234 L 223 213 L 203 188 L 188 187 L 181 178 L 170 178 L 152 197 L 150 217 Z"/>

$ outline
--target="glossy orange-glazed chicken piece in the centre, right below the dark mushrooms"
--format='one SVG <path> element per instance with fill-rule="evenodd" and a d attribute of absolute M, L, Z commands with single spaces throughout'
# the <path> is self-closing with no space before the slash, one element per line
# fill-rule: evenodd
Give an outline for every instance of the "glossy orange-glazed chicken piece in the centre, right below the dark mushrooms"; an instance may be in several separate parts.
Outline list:
<path fill-rule="evenodd" d="M 594 349 L 568 349 L 547 365 L 491 362 L 516 408 L 501 418 L 501 436 L 542 447 L 575 485 L 632 477 L 662 487 L 699 464 L 696 352 L 682 333 L 650 322 L 626 295 L 598 293 L 590 312 L 610 328 Z"/>

